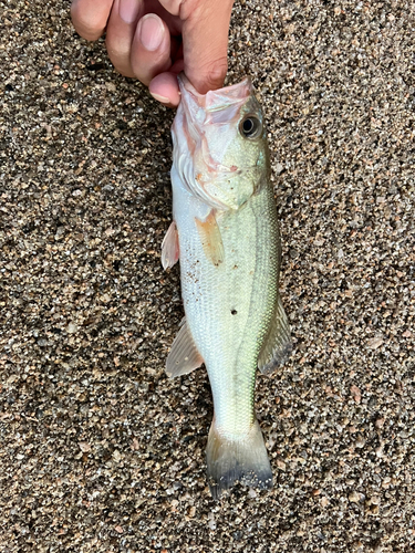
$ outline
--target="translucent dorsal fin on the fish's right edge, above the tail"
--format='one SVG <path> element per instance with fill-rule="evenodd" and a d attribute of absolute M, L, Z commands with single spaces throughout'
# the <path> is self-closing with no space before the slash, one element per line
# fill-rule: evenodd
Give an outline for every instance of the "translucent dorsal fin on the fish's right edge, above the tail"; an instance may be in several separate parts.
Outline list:
<path fill-rule="evenodd" d="M 280 295 L 278 295 L 276 314 L 258 357 L 258 368 L 263 374 L 271 373 L 288 361 L 291 351 L 290 326 Z"/>

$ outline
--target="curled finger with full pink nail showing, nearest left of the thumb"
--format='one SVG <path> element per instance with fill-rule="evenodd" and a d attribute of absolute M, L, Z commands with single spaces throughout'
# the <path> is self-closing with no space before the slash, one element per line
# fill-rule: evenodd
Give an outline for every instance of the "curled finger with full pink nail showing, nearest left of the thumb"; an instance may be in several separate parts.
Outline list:
<path fill-rule="evenodd" d="M 155 13 L 147 13 L 138 21 L 131 64 L 134 75 L 146 85 L 172 65 L 170 33 L 166 23 Z"/>

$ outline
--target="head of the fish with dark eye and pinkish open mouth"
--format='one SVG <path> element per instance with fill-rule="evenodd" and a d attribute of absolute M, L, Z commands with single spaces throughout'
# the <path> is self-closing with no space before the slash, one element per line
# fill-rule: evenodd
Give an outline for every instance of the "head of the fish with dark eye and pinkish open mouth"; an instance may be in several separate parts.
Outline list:
<path fill-rule="evenodd" d="M 269 156 L 260 104 L 250 80 L 199 94 L 178 77 L 174 165 L 188 191 L 217 209 L 238 209 L 267 180 Z"/>

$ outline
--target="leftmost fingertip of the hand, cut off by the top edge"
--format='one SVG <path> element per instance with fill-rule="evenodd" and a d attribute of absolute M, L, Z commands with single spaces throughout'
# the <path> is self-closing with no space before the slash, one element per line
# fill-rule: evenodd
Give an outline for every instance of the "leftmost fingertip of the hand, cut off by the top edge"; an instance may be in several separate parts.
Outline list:
<path fill-rule="evenodd" d="M 113 0 L 73 0 L 71 17 L 76 32 L 86 40 L 97 40 L 105 31 Z"/>

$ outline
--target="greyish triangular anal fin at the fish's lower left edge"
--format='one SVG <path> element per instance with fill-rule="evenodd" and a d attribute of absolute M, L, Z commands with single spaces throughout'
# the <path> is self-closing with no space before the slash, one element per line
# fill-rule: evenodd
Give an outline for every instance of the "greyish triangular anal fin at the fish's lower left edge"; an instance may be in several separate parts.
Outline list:
<path fill-rule="evenodd" d="M 166 374 L 170 378 L 187 375 L 204 363 L 186 321 L 178 331 L 167 356 Z"/>

